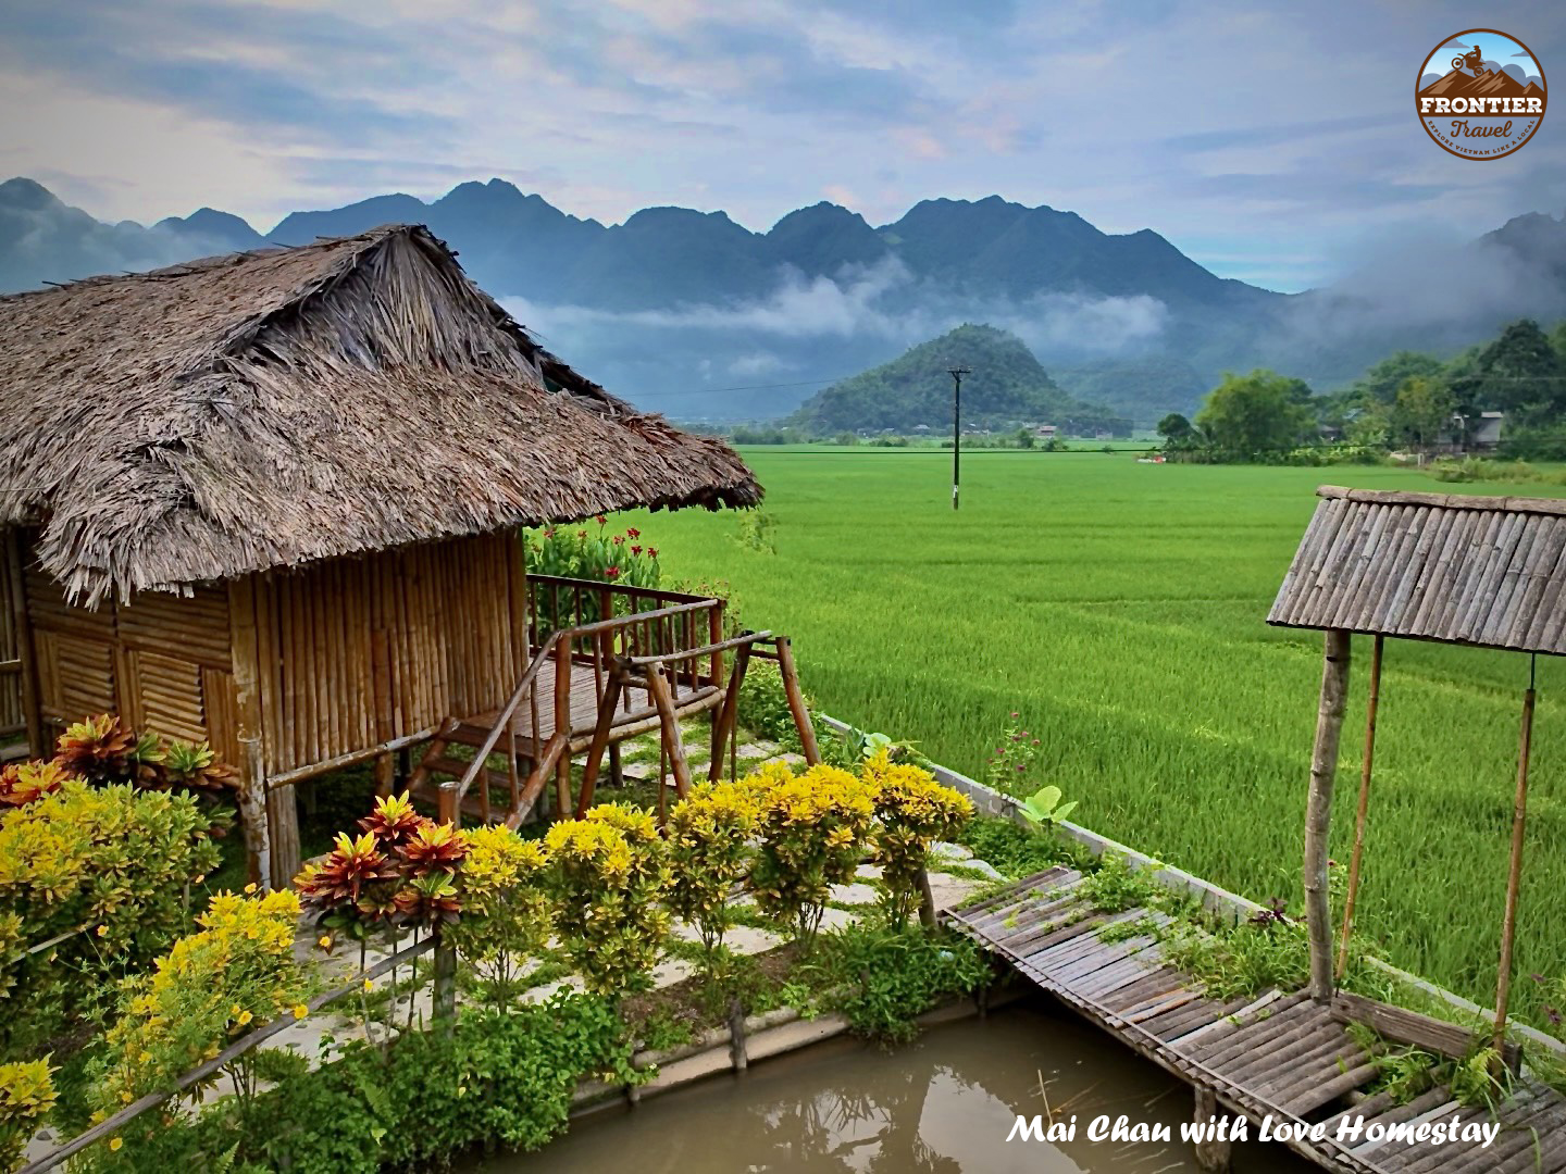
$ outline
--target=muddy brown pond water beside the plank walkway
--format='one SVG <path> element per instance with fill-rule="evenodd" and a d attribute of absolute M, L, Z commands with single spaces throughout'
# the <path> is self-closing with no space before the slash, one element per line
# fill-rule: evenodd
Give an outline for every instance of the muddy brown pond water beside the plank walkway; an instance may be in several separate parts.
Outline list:
<path fill-rule="evenodd" d="M 495 1157 L 484 1174 L 1164 1174 L 1195 1171 L 1179 1124 L 1189 1086 L 1102 1033 L 1045 1007 L 926 1032 L 885 1052 L 835 1041 L 572 1122 L 539 1154 Z M 1074 1141 L 1007 1141 L 1016 1115 L 1065 1121 Z M 1173 1141 L 1088 1141 L 1087 1124 L 1167 1122 Z M 1046 1118 L 1048 1119 L 1048 1118 Z M 1315 1168 L 1276 1144 L 1236 1146 L 1239 1174 Z"/>

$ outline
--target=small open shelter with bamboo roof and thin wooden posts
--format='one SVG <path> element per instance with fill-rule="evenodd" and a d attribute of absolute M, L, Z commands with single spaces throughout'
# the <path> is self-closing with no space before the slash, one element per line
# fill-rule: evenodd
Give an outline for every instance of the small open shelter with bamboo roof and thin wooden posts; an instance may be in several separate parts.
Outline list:
<path fill-rule="evenodd" d="M 1348 693 L 1350 634 L 1373 637 L 1366 750 L 1355 847 L 1340 930 L 1342 969 L 1353 930 L 1370 798 L 1381 648 L 1386 637 L 1566 654 L 1566 501 L 1389 493 L 1323 485 L 1322 502 L 1278 590 L 1267 621 L 1326 632 L 1315 748 L 1304 826 L 1304 892 L 1311 994 L 1331 999 L 1333 925 L 1328 830 L 1337 745 Z M 1527 822 L 1533 675 L 1522 695 L 1511 862 L 1500 925 L 1494 1044 L 1502 1047 Z"/>

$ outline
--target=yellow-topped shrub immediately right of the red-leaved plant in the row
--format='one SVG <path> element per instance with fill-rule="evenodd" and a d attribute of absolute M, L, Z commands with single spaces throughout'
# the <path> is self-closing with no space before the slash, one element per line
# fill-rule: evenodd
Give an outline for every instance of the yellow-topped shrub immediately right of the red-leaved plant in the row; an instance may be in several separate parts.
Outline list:
<path fill-rule="evenodd" d="M 537 953 L 553 930 L 545 873 L 548 856 L 501 825 L 462 831 L 467 856 L 457 872 L 462 917 L 446 941 L 473 966 L 496 1003 L 521 992 L 520 964 Z"/>

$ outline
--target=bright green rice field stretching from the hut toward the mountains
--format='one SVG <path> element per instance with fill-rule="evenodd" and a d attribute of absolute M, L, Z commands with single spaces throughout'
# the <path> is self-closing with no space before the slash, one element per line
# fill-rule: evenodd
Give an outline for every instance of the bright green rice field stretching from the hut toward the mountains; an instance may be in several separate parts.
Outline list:
<path fill-rule="evenodd" d="M 1264 617 L 1320 482 L 1442 487 L 1392 468 L 1140 465 L 1124 454 L 745 452 L 777 553 L 739 518 L 637 524 L 666 578 L 727 579 L 744 621 L 794 637 L 821 708 L 983 776 L 1015 711 L 1073 819 L 1253 899 L 1300 908 L 1317 632 Z M 1549 493 L 1550 490 L 1538 490 Z M 644 538 L 645 542 L 645 538 Z M 1334 856 L 1348 858 L 1370 640 L 1355 639 Z M 1516 1000 L 1566 956 L 1566 672 L 1539 659 Z M 1522 654 L 1387 642 L 1359 902 L 1386 956 L 1491 1002 Z"/>

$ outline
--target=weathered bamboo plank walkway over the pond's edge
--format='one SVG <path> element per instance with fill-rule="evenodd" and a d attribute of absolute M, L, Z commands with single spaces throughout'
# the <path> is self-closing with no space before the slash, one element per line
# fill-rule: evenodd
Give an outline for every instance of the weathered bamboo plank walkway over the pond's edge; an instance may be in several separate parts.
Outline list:
<path fill-rule="evenodd" d="M 1303 991 L 1268 991 L 1226 1003 L 1207 999 L 1195 980 L 1165 961 L 1154 938 L 1106 942 L 1098 933 L 1142 917 L 1162 924 L 1164 914 L 1140 908 L 1099 913 L 1077 894 L 1081 878 L 1076 870 L 1054 867 L 954 909 L 947 920 L 1110 1035 L 1247 1116 L 1253 1138 L 1267 1116 L 1275 1124 L 1328 1122 L 1323 1140 L 1289 1143 L 1325 1169 L 1566 1171 L 1566 1099 L 1553 1089 L 1525 1079 L 1494 1116 L 1458 1105 L 1444 1086 L 1405 1105 L 1380 1093 L 1364 1096 L 1377 1069 L 1348 1035 L 1342 1003 L 1334 1013 Z M 1358 1141 L 1339 1143 L 1334 1135 L 1345 1113 L 1350 1119 L 1362 1115 L 1367 1127 L 1456 1116 L 1463 1124 L 1499 1119 L 1502 1130 L 1488 1149 L 1478 1141 L 1439 1147 L 1428 1141 L 1377 1143 L 1362 1133 Z"/>

